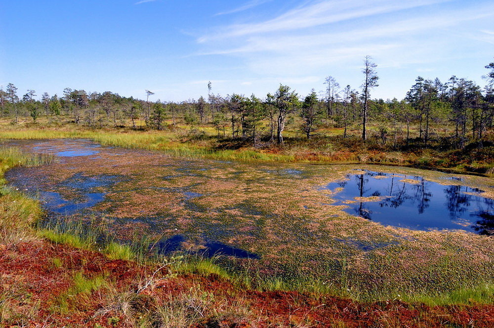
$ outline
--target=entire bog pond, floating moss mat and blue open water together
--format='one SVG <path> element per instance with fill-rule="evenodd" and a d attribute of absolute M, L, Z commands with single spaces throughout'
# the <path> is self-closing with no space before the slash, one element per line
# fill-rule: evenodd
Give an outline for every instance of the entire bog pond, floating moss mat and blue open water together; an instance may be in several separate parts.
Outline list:
<path fill-rule="evenodd" d="M 6 174 L 40 200 L 41 224 L 104 226 L 121 243 L 146 236 L 161 255 L 222 255 L 229 272 L 352 297 L 452 290 L 494 274 L 491 178 L 188 160 L 81 139 L 5 145 L 55 158 Z"/>

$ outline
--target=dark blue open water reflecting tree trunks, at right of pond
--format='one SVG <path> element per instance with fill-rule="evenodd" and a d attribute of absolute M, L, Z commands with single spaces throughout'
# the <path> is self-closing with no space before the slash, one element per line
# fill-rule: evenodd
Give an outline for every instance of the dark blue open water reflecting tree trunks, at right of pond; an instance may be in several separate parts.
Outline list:
<path fill-rule="evenodd" d="M 335 205 L 355 197 L 381 197 L 378 201 L 346 204 L 348 213 L 384 225 L 416 230 L 461 229 L 494 235 L 494 200 L 480 196 L 482 190 L 466 186 L 445 186 L 419 176 L 366 171 L 349 174 L 348 180 L 328 184 L 338 191 Z M 403 179 L 417 183 L 402 182 Z"/>

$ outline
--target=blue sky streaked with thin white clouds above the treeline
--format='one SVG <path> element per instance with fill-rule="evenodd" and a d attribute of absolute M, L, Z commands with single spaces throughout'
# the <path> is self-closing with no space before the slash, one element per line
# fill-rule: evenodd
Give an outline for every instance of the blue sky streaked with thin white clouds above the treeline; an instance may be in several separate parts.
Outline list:
<path fill-rule="evenodd" d="M 255 93 L 300 95 L 362 83 L 402 98 L 417 76 L 485 85 L 494 57 L 492 0 L 1 0 L 0 85 L 65 87 L 178 101 Z"/>

